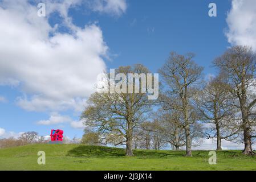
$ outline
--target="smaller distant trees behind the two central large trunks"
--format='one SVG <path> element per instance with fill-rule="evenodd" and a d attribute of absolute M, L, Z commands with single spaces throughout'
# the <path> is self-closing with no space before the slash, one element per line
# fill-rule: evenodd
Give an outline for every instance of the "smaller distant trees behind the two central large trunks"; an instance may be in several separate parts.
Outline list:
<path fill-rule="evenodd" d="M 169 147 L 180 150 L 186 145 L 186 135 L 182 126 L 181 114 L 177 111 L 159 109 L 152 122 L 146 121 L 133 132 L 133 148 L 155 149 Z M 192 146 L 200 145 L 202 125 L 198 122 L 190 127 Z"/>

